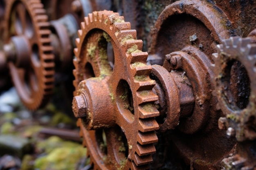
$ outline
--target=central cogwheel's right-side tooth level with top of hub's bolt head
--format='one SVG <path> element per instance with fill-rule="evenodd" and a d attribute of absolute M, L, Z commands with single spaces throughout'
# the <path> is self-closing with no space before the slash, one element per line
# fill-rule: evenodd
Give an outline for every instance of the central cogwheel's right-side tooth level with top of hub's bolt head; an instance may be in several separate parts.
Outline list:
<path fill-rule="evenodd" d="M 136 95 L 138 97 L 139 104 L 156 102 L 158 100 L 158 96 L 153 93 L 153 91 L 138 91 Z"/>

